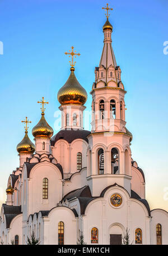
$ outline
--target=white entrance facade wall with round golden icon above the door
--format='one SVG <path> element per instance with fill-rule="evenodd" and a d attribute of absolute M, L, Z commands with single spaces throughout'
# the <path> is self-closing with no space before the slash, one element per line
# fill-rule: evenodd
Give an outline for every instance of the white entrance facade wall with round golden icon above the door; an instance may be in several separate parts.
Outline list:
<path fill-rule="evenodd" d="M 121 195 L 123 199 L 122 205 L 117 208 L 110 203 L 110 197 L 115 193 Z M 150 244 L 150 218 L 147 216 L 147 209 L 141 202 L 130 199 L 124 189 L 117 186 L 112 187 L 106 191 L 104 198 L 95 199 L 88 204 L 85 216 L 83 216 L 85 240 L 87 244 L 91 244 L 91 228 L 97 227 L 99 229 L 99 244 L 109 244 L 110 234 L 115 234 L 116 230 L 120 230 L 119 227 L 122 227 L 123 234 L 128 227 L 130 241 L 135 243 L 134 233 L 139 227 L 142 229 L 142 243 Z"/>

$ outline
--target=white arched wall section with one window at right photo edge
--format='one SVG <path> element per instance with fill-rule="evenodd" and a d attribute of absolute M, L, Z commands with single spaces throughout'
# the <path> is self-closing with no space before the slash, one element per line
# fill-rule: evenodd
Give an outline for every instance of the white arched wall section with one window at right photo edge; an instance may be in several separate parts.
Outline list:
<path fill-rule="evenodd" d="M 162 227 L 162 244 L 168 244 L 168 213 L 162 209 L 151 211 L 151 244 L 156 244 L 156 225 Z"/>

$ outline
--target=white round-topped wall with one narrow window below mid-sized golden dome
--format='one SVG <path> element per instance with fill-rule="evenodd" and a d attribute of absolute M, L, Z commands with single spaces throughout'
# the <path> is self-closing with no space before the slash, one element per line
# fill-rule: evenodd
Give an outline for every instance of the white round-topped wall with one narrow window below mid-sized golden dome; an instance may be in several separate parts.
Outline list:
<path fill-rule="evenodd" d="M 43 199 L 43 179 L 48 179 L 48 199 Z M 57 166 L 49 162 L 36 164 L 30 172 L 29 214 L 52 209 L 62 199 L 62 175 Z"/>

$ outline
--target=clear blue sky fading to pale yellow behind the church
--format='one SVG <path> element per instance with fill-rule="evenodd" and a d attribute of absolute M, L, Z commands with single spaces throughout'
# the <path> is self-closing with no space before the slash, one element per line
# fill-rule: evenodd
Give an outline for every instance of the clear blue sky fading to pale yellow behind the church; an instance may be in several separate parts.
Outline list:
<path fill-rule="evenodd" d="M 99 65 L 106 1 L 0 0 L 0 201 L 8 175 L 18 166 L 16 145 L 24 136 L 21 120 L 31 129 L 40 118 L 41 97 L 49 101 L 46 119 L 54 127 L 59 107 L 57 92 L 69 76 L 73 45 L 81 53 L 76 76 L 88 93 L 91 106 L 94 68 Z M 168 211 L 167 0 L 109 1 L 113 7 L 113 49 L 127 90 L 126 121 L 133 133 L 132 157 L 146 175 L 146 196 L 151 208 Z M 57 121 L 56 121 L 57 122 Z M 57 132 L 54 130 L 54 132 Z"/>

